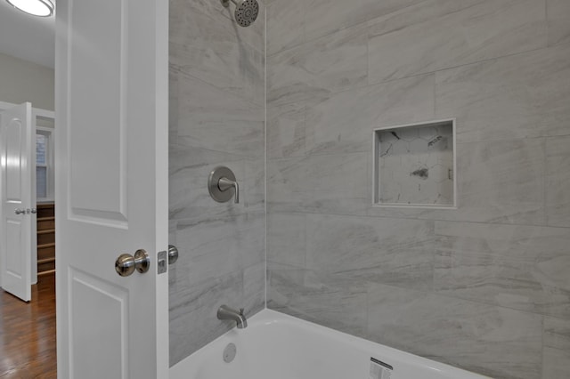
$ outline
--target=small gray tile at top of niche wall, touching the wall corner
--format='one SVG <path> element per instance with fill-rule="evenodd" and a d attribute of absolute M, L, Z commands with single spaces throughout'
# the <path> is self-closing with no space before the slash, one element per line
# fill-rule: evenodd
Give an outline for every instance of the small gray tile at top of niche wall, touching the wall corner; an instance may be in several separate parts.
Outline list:
<path fill-rule="evenodd" d="M 275 0 L 267 6 L 267 55 L 305 42 L 306 0 Z"/>

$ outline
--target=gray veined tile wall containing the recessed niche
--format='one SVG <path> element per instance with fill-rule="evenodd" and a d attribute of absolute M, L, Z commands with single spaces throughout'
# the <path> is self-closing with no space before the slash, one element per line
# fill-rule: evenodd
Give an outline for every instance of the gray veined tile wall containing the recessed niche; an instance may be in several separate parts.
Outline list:
<path fill-rule="evenodd" d="M 570 377 L 570 2 L 265 4 L 268 307 Z M 372 130 L 451 117 L 458 209 L 373 207 Z"/>

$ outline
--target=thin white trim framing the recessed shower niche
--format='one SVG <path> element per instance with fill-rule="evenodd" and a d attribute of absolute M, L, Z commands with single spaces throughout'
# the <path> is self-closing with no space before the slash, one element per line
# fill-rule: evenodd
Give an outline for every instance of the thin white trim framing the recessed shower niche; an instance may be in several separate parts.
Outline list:
<path fill-rule="evenodd" d="M 452 140 L 453 140 L 453 204 L 449 205 L 429 205 L 429 204 L 400 204 L 400 203 L 379 203 L 379 167 L 378 153 L 379 141 L 378 131 L 397 129 L 409 126 L 422 126 L 432 124 L 442 124 L 446 122 L 452 123 Z M 432 121 L 421 121 L 411 124 L 390 125 L 374 128 L 372 130 L 372 206 L 375 208 L 418 208 L 418 209 L 457 209 L 459 207 L 459 199 L 457 193 L 457 118 L 442 118 Z"/>

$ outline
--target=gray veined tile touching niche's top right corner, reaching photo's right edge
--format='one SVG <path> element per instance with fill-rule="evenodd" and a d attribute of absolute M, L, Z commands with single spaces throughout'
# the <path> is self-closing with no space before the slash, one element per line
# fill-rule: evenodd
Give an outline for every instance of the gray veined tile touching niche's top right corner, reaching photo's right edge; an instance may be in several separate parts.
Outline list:
<path fill-rule="evenodd" d="M 436 73 L 436 117 L 457 117 L 458 141 L 567 135 L 570 44 Z"/>

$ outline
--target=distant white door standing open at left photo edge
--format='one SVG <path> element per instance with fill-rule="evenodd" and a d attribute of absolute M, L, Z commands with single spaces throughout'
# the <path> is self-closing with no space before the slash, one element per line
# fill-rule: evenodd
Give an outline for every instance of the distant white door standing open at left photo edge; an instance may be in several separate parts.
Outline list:
<path fill-rule="evenodd" d="M 36 134 L 29 102 L 1 115 L 0 162 L 2 226 L 0 227 L 0 286 L 24 302 L 31 300 L 32 194 Z"/>

